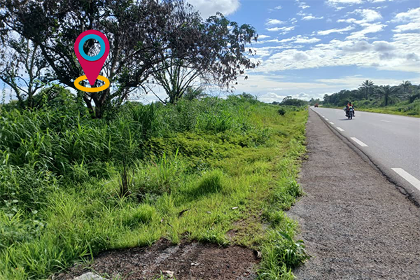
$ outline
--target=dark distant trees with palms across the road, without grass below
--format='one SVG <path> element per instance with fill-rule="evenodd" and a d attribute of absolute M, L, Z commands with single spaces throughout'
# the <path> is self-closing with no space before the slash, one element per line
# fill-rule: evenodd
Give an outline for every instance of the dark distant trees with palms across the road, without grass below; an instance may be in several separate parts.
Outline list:
<path fill-rule="evenodd" d="M 420 85 L 413 85 L 403 80 L 400 85 L 375 85 L 372 80 L 365 80 L 357 90 L 340 90 L 334 94 L 325 94 L 323 104 L 345 106 L 348 102 L 357 102 L 363 106 L 381 107 L 405 102 L 412 104 L 420 99 Z"/>

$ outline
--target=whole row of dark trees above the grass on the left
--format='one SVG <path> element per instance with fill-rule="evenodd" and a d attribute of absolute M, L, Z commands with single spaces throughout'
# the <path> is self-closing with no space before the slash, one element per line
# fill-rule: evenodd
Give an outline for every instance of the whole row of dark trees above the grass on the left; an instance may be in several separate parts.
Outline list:
<path fill-rule="evenodd" d="M 259 64 L 247 48 L 258 39 L 254 27 L 221 13 L 203 20 L 184 0 L 0 0 L 0 6 L 0 80 L 22 109 L 54 99 L 56 85 L 63 85 L 77 92 L 92 117 L 102 118 L 129 97 L 158 97 L 157 86 L 167 94 L 163 103 L 200 85 L 232 90 L 239 76 Z M 73 85 L 83 76 L 73 44 L 89 29 L 110 42 L 102 75 L 111 87 L 102 92 L 80 92 Z M 88 40 L 83 49 L 96 55 L 99 44 Z"/>

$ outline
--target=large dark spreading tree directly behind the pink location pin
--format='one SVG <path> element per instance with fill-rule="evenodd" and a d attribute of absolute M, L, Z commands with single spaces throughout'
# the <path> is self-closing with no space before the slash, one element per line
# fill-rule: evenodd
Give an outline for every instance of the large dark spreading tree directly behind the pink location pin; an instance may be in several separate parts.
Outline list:
<path fill-rule="evenodd" d="M 0 4 L 4 7 L 0 36 L 15 32 L 38 45 L 54 78 L 75 90 L 73 81 L 83 75 L 73 51 L 76 38 L 88 29 L 106 35 L 111 51 L 103 72 L 112 86 L 102 92 L 83 92 L 87 108 L 97 118 L 107 106 L 121 104 L 147 83 L 157 70 L 155 65 L 174 53 L 190 52 L 192 42 L 200 41 L 200 32 L 188 33 L 200 15 L 183 0 L 0 0 Z M 83 46 L 88 55 L 97 54 L 98 48 L 93 40 Z M 100 85 L 97 80 L 94 86 Z"/>

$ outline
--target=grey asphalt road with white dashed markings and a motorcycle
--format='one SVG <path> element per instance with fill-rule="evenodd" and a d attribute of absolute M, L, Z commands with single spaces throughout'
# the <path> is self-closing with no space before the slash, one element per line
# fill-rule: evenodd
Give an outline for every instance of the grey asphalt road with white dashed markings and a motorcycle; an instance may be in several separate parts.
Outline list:
<path fill-rule="evenodd" d="M 356 111 L 349 120 L 343 110 L 311 109 L 420 202 L 419 118 Z"/>

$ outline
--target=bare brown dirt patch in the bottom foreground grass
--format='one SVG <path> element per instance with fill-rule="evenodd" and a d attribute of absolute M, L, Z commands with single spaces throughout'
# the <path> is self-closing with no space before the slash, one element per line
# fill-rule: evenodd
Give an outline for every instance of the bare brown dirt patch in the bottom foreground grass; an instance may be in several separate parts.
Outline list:
<path fill-rule="evenodd" d="M 67 280 L 93 271 L 108 279 L 155 279 L 161 272 L 174 272 L 177 280 L 255 279 L 258 260 L 253 251 L 240 246 L 223 248 L 215 244 L 183 241 L 173 246 L 167 240 L 148 248 L 108 251 L 95 258 L 90 267 L 77 265 L 54 279 Z M 167 278 L 169 279 L 169 277 Z"/>

